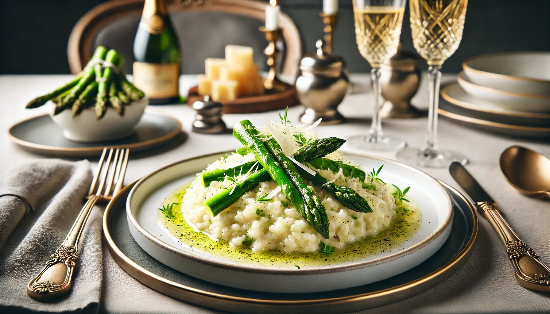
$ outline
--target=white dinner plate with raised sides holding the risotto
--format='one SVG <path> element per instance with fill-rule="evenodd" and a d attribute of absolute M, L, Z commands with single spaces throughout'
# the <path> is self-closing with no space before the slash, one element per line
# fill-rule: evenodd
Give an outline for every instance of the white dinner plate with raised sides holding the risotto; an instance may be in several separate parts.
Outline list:
<path fill-rule="evenodd" d="M 347 153 L 345 158 L 366 169 L 384 165 L 380 177 L 398 186 L 420 207 L 421 226 L 403 245 L 359 261 L 330 266 L 279 268 L 223 260 L 185 246 L 158 222 L 158 207 L 175 189 L 226 152 L 184 159 L 140 179 L 130 191 L 127 217 L 136 243 L 164 265 L 216 284 L 273 293 L 312 293 L 357 287 L 397 276 L 432 256 L 447 240 L 453 221 L 453 202 L 436 180 L 403 163 Z"/>

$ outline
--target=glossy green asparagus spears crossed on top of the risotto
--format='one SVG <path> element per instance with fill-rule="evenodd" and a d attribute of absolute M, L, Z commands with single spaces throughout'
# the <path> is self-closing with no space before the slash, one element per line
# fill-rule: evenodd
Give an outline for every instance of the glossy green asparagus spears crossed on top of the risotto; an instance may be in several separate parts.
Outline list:
<path fill-rule="evenodd" d="M 284 196 L 296 207 L 300 215 L 313 229 L 324 238 L 328 238 L 329 223 L 327 213 L 321 200 L 315 195 L 312 186 L 324 189 L 342 205 L 357 212 L 372 212 L 366 200 L 356 191 L 347 186 L 336 185 L 323 178 L 318 172 L 310 173 L 306 169 L 296 167 L 295 163 L 305 162 L 316 169 L 342 169 L 346 177 L 365 180 L 365 172 L 349 164 L 339 163 L 323 158 L 342 146 L 345 140 L 337 137 L 311 140 L 294 153 L 295 160 L 286 156 L 273 136 L 265 137 L 250 123 L 243 120 L 235 125 L 233 135 L 246 147 L 239 148 L 237 153 L 246 155 L 253 153 L 257 161 L 250 161 L 238 167 L 218 169 L 202 173 L 202 185 L 206 188 L 212 181 L 222 181 L 226 178 L 236 178 L 239 174 L 247 174 L 243 180 L 235 180 L 234 184 L 212 196 L 204 202 L 205 207 L 214 217 L 226 210 L 240 199 L 246 192 L 253 190 L 261 182 L 273 179 L 281 187 Z M 312 166 L 315 165 L 315 166 Z M 308 169 L 311 170 L 312 169 Z M 339 171 L 339 170 L 336 170 Z"/>

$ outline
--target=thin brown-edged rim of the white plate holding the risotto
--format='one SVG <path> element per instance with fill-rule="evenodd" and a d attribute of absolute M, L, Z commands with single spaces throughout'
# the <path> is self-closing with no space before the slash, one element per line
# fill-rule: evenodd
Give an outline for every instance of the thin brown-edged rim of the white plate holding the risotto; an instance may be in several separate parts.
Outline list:
<path fill-rule="evenodd" d="M 238 271 L 251 272 L 251 273 L 274 273 L 275 272 L 275 273 L 278 273 L 278 274 L 292 274 L 292 275 L 303 274 L 303 275 L 307 275 L 307 274 L 319 274 L 319 273 L 345 272 L 345 271 L 349 271 L 351 269 L 360 269 L 360 268 L 364 268 L 364 267 L 369 267 L 369 266 L 372 266 L 372 265 L 376 265 L 378 263 L 386 263 L 386 262 L 395 260 L 395 259 L 397 259 L 401 256 L 409 255 L 412 252 L 415 252 L 415 251 L 421 249 L 422 247 L 424 247 L 424 246 L 428 245 L 429 243 L 431 243 L 433 240 L 437 239 L 439 236 L 441 236 L 445 232 L 445 230 L 447 230 L 447 228 L 450 227 L 451 223 L 453 222 L 453 215 L 454 215 L 453 200 L 451 199 L 451 197 L 449 195 L 449 192 L 447 192 L 447 190 L 445 190 L 443 185 L 441 183 L 439 183 L 439 181 L 437 179 L 431 177 L 431 175 L 428 175 L 427 173 L 422 172 L 419 169 L 416 169 L 416 168 L 411 167 L 411 166 L 409 166 L 407 164 L 404 164 L 404 163 L 400 163 L 398 161 L 393 161 L 393 160 L 387 159 L 387 158 L 364 155 L 364 154 L 357 153 L 357 152 L 349 152 L 350 155 L 368 157 L 368 158 L 376 159 L 376 160 L 383 161 L 383 162 L 398 164 L 401 167 L 405 167 L 405 168 L 408 168 L 410 170 L 413 170 L 414 172 L 422 175 L 423 177 L 426 177 L 427 179 L 433 180 L 437 184 L 438 188 L 441 189 L 441 191 L 443 192 L 443 194 L 447 198 L 447 202 L 448 202 L 448 205 L 449 205 L 449 214 L 447 215 L 447 217 L 445 217 L 445 220 L 443 221 L 441 226 L 439 226 L 439 228 L 437 228 L 430 236 L 428 236 L 428 238 L 420 241 L 419 243 L 417 243 L 415 245 L 412 245 L 412 246 L 408 247 L 407 249 L 405 249 L 403 251 L 394 253 L 392 255 L 384 256 L 384 257 L 381 257 L 381 258 L 377 258 L 376 260 L 371 260 L 371 261 L 366 261 L 366 262 L 346 263 L 346 265 L 340 265 L 340 266 L 329 265 L 329 266 L 322 266 L 322 267 L 311 267 L 311 268 L 308 267 L 308 268 L 304 268 L 304 269 L 292 269 L 292 268 L 291 269 L 286 269 L 286 268 L 282 269 L 282 268 L 267 268 L 267 267 L 261 267 L 261 266 L 250 266 L 250 265 L 243 265 L 243 264 L 235 265 L 234 263 L 226 263 L 226 262 L 221 262 L 221 261 L 216 261 L 216 260 L 210 260 L 209 258 L 197 256 L 197 255 L 191 254 L 189 252 L 180 250 L 177 247 L 174 247 L 174 246 L 169 245 L 167 243 L 164 243 L 160 239 L 156 238 L 155 236 L 153 236 L 152 234 L 147 232 L 147 230 L 145 230 L 145 228 L 143 228 L 138 223 L 136 217 L 134 216 L 134 214 L 131 211 L 130 200 L 133 198 L 134 192 L 139 188 L 139 186 L 142 183 L 144 183 L 145 180 L 151 178 L 153 175 L 161 172 L 162 170 L 173 167 L 173 166 L 175 166 L 179 163 L 191 161 L 193 159 L 205 158 L 205 157 L 208 157 L 208 156 L 221 155 L 223 153 L 228 153 L 228 152 L 232 152 L 232 151 L 223 151 L 223 152 L 210 153 L 210 154 L 207 154 L 207 155 L 197 156 L 197 157 L 193 157 L 193 158 L 186 158 L 186 159 L 183 159 L 181 161 L 168 164 L 167 166 L 164 166 L 160 169 L 157 169 L 154 172 L 152 172 L 152 173 L 146 175 L 145 177 L 141 178 L 134 185 L 134 187 L 131 189 L 130 194 L 128 195 L 127 202 L 126 202 L 126 213 L 127 213 L 127 217 L 129 219 L 129 221 L 131 222 L 131 224 L 133 224 L 134 227 L 136 228 L 136 230 L 138 230 L 139 233 L 144 235 L 145 238 L 150 240 L 153 244 L 162 247 L 162 249 L 174 252 L 175 254 L 184 256 L 184 257 L 189 258 L 191 260 L 206 263 L 208 265 L 221 267 L 221 268 L 227 268 L 227 269 L 235 269 L 235 270 L 238 270 Z"/>

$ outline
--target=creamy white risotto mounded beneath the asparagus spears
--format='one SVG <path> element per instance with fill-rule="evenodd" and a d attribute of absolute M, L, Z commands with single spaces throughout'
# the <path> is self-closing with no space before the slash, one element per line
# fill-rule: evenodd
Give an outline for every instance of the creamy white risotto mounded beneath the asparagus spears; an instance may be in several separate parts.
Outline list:
<path fill-rule="evenodd" d="M 212 163 L 206 170 L 223 169 L 225 164 L 233 163 L 239 154 L 233 154 L 224 160 Z M 342 161 L 338 152 L 326 158 Z M 353 162 L 346 163 L 354 166 Z M 206 171 L 205 170 L 205 171 Z M 371 205 L 372 213 L 360 213 L 344 207 L 322 189 L 315 189 L 326 208 L 330 224 L 329 239 L 323 239 L 305 219 L 300 217 L 296 208 L 290 204 L 282 192 L 278 192 L 269 202 L 256 201 L 261 195 L 269 194 L 277 188 L 273 181 L 260 183 L 254 190 L 247 192 L 226 211 L 212 217 L 204 206 L 204 201 L 227 189 L 232 181 L 213 181 L 208 188 L 203 188 L 199 177 L 195 179 L 182 200 L 182 212 L 186 221 L 197 230 L 209 235 L 212 239 L 228 241 L 230 246 L 243 245 L 243 240 L 253 238 L 250 244 L 252 251 L 282 250 L 285 252 L 313 252 L 320 249 L 321 240 L 336 250 L 365 236 L 373 236 L 392 223 L 395 217 L 395 204 L 392 191 L 386 184 L 373 180 L 372 188 L 366 190 L 357 178 L 334 178 L 331 170 L 321 170 L 327 179 L 336 179 L 335 184 L 349 186 L 363 196 Z"/>

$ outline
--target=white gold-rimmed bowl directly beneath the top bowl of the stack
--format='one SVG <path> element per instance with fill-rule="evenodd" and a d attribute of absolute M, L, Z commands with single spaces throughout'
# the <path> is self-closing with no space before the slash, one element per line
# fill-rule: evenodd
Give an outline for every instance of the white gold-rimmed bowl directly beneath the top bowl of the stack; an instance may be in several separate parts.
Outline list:
<path fill-rule="evenodd" d="M 550 111 L 550 95 L 515 93 L 474 84 L 464 71 L 458 74 L 458 84 L 470 95 L 498 104 L 504 109 L 521 112 Z"/>

